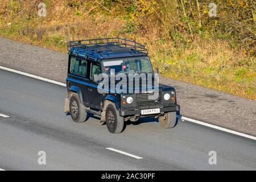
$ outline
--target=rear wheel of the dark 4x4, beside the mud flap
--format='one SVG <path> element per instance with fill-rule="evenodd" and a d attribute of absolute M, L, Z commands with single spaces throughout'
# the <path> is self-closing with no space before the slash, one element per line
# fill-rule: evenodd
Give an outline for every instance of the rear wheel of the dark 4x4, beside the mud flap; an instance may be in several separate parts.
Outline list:
<path fill-rule="evenodd" d="M 85 106 L 81 104 L 79 96 L 76 93 L 72 94 L 70 97 L 69 111 L 74 122 L 85 122 L 87 117 Z"/>

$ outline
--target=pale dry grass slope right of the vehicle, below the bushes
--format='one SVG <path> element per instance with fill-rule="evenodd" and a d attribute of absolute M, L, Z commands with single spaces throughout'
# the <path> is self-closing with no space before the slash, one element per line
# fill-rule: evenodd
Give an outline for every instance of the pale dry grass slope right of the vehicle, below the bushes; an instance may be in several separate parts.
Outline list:
<path fill-rule="evenodd" d="M 199 39 L 182 50 L 165 46 L 169 56 L 151 56 L 163 75 L 255 100 L 255 60 L 251 60 L 250 66 L 236 66 L 244 55 L 230 49 L 227 42 Z"/>

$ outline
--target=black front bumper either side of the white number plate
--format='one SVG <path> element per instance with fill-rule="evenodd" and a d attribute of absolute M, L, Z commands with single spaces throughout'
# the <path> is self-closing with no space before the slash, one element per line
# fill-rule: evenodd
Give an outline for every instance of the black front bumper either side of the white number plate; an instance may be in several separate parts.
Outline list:
<path fill-rule="evenodd" d="M 138 109 L 138 110 L 123 110 L 123 111 L 119 111 L 119 115 L 120 116 L 126 116 L 126 115 L 135 115 L 135 114 L 139 114 L 141 115 L 141 110 L 142 109 Z M 175 105 L 175 106 L 171 106 L 171 107 L 162 107 L 160 108 L 160 113 L 168 113 L 171 111 L 179 111 L 180 110 L 180 105 Z M 154 114 L 154 115 L 158 115 Z M 147 115 L 143 115 L 143 116 L 147 116 Z"/>

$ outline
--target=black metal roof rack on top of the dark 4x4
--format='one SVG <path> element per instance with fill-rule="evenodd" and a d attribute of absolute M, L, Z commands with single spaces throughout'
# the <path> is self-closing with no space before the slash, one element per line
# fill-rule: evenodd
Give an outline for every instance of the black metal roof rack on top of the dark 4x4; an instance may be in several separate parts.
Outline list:
<path fill-rule="evenodd" d="M 127 51 L 138 51 L 140 53 L 148 54 L 147 49 L 142 44 L 139 44 L 134 40 L 122 38 L 104 38 L 69 41 L 68 50 L 71 47 L 82 48 L 86 51 L 92 51 L 95 53 L 117 53 Z"/>

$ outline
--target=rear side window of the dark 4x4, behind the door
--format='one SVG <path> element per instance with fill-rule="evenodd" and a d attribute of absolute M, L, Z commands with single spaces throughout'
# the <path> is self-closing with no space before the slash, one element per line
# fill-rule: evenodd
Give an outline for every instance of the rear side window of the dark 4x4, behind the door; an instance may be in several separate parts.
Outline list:
<path fill-rule="evenodd" d="M 87 62 L 76 57 L 71 57 L 69 72 L 79 76 L 86 76 Z"/>

